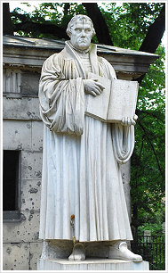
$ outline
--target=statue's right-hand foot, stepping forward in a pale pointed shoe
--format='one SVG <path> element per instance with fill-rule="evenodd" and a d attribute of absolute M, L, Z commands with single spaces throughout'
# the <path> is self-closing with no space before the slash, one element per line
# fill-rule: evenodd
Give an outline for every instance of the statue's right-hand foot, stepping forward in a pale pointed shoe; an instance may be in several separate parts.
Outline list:
<path fill-rule="evenodd" d="M 125 242 L 117 242 L 116 244 L 109 246 L 108 258 L 126 261 L 142 261 L 142 257 L 131 252 L 127 248 L 127 244 Z"/>

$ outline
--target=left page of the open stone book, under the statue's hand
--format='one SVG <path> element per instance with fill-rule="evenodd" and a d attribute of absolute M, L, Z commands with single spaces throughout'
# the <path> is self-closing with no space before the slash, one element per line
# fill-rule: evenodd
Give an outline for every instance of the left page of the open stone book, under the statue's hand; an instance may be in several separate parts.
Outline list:
<path fill-rule="evenodd" d="M 92 116 L 97 120 L 107 120 L 108 103 L 110 95 L 111 80 L 100 77 L 99 75 L 89 72 L 88 79 L 98 79 L 105 89 L 100 95 L 85 95 L 85 115 Z"/>

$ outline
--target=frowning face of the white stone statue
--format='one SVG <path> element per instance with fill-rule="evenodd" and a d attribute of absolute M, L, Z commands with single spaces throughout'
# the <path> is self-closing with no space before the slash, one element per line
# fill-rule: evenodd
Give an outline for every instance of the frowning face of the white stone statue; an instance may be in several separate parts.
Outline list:
<path fill-rule="evenodd" d="M 70 41 L 78 49 L 85 50 L 91 44 L 92 26 L 91 21 L 76 20 L 71 28 Z"/>

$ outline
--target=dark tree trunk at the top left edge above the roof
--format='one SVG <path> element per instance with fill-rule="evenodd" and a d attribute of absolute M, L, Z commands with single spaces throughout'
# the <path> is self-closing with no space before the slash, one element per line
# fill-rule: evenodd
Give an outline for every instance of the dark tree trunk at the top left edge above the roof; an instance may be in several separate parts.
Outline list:
<path fill-rule="evenodd" d="M 13 35 L 9 3 L 3 3 L 3 35 Z"/>

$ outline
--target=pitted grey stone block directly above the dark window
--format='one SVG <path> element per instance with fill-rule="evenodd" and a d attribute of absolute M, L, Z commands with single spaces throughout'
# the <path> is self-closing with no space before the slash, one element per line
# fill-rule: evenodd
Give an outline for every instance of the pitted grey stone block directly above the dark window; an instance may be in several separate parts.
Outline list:
<path fill-rule="evenodd" d="M 31 122 L 4 120 L 4 150 L 31 149 Z"/>

